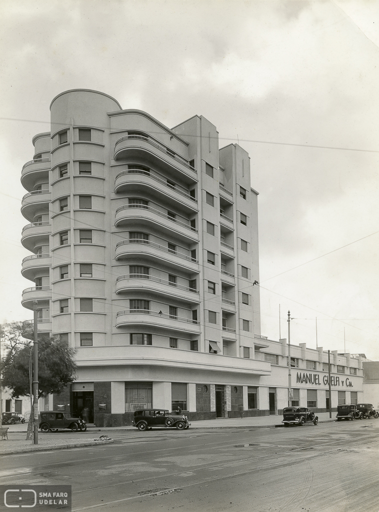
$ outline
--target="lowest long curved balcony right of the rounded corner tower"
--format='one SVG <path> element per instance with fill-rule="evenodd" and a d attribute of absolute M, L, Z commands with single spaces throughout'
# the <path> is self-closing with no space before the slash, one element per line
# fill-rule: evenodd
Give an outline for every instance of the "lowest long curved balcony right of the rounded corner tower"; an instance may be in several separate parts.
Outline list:
<path fill-rule="evenodd" d="M 147 329 L 200 334 L 200 322 L 150 309 L 125 309 L 116 315 L 116 327 L 140 326 Z"/>

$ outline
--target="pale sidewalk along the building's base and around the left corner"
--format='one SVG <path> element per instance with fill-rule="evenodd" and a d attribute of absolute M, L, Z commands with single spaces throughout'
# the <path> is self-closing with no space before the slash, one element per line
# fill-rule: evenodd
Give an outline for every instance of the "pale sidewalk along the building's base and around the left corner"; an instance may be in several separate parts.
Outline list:
<path fill-rule="evenodd" d="M 332 418 L 329 418 L 329 413 L 320 413 L 319 422 L 330 422 L 335 420 L 335 414 L 332 413 Z M 258 416 L 255 418 L 218 418 L 214 420 L 201 420 L 192 421 L 191 430 L 210 430 L 210 429 L 275 429 L 282 427 L 281 423 L 283 416 Z M 305 426 L 307 423 L 305 424 Z M 4 425 L 8 426 L 8 425 Z M 63 450 L 68 448 L 77 448 L 82 446 L 96 446 L 99 444 L 113 443 L 113 439 L 100 441 L 95 439 L 99 438 L 101 434 L 107 433 L 106 435 L 112 437 L 112 432 L 135 432 L 137 429 L 134 426 L 116 426 L 116 427 L 103 427 L 98 428 L 96 426 L 89 427 L 87 432 L 83 434 L 86 437 L 77 437 L 70 439 L 62 439 L 57 433 L 54 437 L 44 436 L 38 433 L 38 445 L 33 445 L 31 441 L 25 439 L 12 439 L 12 434 L 26 434 L 26 425 L 9 425 L 8 438 L 9 440 L 0 441 L 0 455 L 12 454 L 12 453 L 26 453 L 43 450 Z M 104 434 L 105 435 L 105 434 Z"/>

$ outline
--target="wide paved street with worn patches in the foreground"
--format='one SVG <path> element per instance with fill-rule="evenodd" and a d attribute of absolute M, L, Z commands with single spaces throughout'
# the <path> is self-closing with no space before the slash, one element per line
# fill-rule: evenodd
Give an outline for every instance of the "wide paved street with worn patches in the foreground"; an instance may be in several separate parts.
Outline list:
<path fill-rule="evenodd" d="M 378 510 L 379 420 L 111 436 L 104 446 L 3 456 L 0 483 L 71 484 L 77 512 Z"/>

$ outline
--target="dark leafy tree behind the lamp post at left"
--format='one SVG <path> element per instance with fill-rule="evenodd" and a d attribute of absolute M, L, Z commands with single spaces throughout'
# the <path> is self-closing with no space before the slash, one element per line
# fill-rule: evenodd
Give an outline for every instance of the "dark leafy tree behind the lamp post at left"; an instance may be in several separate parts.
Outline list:
<path fill-rule="evenodd" d="M 14 349 L 3 359 L 3 386 L 12 390 L 12 398 L 30 396 L 29 361 L 33 367 L 31 342 Z M 49 393 L 61 393 L 76 377 L 75 350 L 54 338 L 38 339 L 38 398 Z M 30 415 L 27 439 L 31 431 Z"/>

